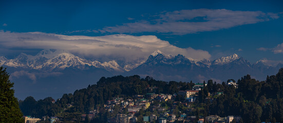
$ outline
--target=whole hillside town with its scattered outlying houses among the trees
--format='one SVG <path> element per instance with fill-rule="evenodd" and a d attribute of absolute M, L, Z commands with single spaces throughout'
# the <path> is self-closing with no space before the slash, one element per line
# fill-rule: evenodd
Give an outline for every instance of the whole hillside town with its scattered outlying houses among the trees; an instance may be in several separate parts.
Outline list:
<path fill-rule="evenodd" d="M 207 85 L 207 84 L 205 84 Z M 237 88 L 237 84 L 230 80 L 227 83 L 228 86 L 234 86 Z M 129 122 L 225 122 L 229 123 L 233 120 L 235 122 L 241 122 L 241 116 L 225 116 L 220 117 L 218 115 L 201 116 L 191 115 L 192 111 L 196 110 L 194 102 L 199 97 L 199 91 L 202 90 L 204 84 L 194 84 L 192 90 L 180 90 L 178 93 L 171 94 L 156 94 L 154 93 L 157 87 L 151 87 L 153 93 L 146 93 L 145 95 L 135 95 L 133 97 L 126 97 L 120 95 L 112 100 L 107 100 L 103 105 L 103 109 L 109 113 L 116 114 L 107 118 L 107 122 L 110 123 L 129 123 Z M 213 99 L 217 98 L 223 92 L 209 93 L 209 96 L 205 98 L 205 103 L 212 103 Z M 55 101 L 52 99 L 52 103 Z M 67 104 L 68 108 L 72 107 L 72 104 Z M 93 120 L 96 115 L 99 114 L 99 110 L 95 109 L 89 111 L 87 114 L 81 115 L 81 121 L 89 122 Z M 139 115 L 143 115 L 140 117 Z M 58 117 L 43 117 L 32 118 L 25 116 L 26 122 L 36 121 L 50 121 L 62 122 L 62 118 Z"/>

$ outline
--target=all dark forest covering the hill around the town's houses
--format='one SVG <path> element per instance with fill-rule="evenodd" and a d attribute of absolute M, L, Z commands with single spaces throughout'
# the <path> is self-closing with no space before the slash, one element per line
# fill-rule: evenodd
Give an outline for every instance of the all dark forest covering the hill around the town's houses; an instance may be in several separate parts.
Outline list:
<path fill-rule="evenodd" d="M 229 79 L 228 81 L 233 80 Z M 227 83 L 228 83 L 227 81 Z M 234 80 L 233 80 L 234 81 Z M 265 81 L 258 81 L 250 75 L 243 76 L 237 80 L 238 87 L 228 86 L 226 82 L 217 84 L 213 80 L 204 81 L 207 86 L 199 91 L 198 99 L 193 103 L 195 110 L 191 115 L 209 116 L 219 115 L 221 117 L 229 115 L 239 115 L 243 122 L 274 122 L 283 121 L 283 68 L 276 75 L 267 76 Z M 99 114 L 92 122 L 106 122 L 107 118 L 115 116 L 112 112 L 104 110 L 103 105 L 107 100 L 117 96 L 131 98 L 134 95 L 145 95 L 153 92 L 156 88 L 157 94 L 175 94 L 179 90 L 190 90 L 195 84 L 190 81 L 159 81 L 152 77 L 140 78 L 134 76 L 114 76 L 102 77 L 97 84 L 89 85 L 85 89 L 76 90 L 73 94 L 64 94 L 62 98 L 52 103 L 52 98 L 35 100 L 29 96 L 25 100 L 20 100 L 20 108 L 24 115 L 34 117 L 58 116 L 63 119 L 76 119 L 81 121 L 81 115 L 94 109 L 99 110 Z M 213 101 L 205 101 L 209 94 L 222 92 Z M 182 101 L 178 95 L 176 100 Z M 172 101 L 167 101 L 166 106 L 172 105 Z M 68 107 L 71 104 L 72 107 Z M 154 105 L 154 104 L 153 104 Z M 181 105 L 179 107 L 182 107 Z M 184 108 L 179 108 L 182 110 Z M 146 111 L 141 110 L 137 115 L 143 115 Z"/>

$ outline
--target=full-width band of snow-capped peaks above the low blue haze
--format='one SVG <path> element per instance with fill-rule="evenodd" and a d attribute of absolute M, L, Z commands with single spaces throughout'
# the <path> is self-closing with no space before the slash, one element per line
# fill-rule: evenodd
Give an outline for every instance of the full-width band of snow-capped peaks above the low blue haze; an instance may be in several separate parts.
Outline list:
<path fill-rule="evenodd" d="M 91 70 L 97 68 L 109 71 L 114 75 L 140 74 L 157 76 L 156 78 L 160 77 L 160 79 L 179 76 L 181 77 L 179 80 L 194 79 L 197 81 L 200 78 L 225 80 L 226 78 L 238 78 L 245 74 L 254 74 L 256 78 L 263 78 L 283 66 L 281 64 L 276 67 L 269 66 L 265 59 L 251 64 L 237 54 L 215 60 L 196 60 L 181 54 L 176 56 L 165 54 L 160 50 L 154 51 L 146 60 L 141 58 L 131 61 L 124 64 L 123 67 L 115 60 L 89 60 L 64 50 L 43 50 L 34 56 L 21 53 L 14 59 L 1 56 L 0 63 L 6 67 L 24 70 L 62 71 L 65 69 Z"/>

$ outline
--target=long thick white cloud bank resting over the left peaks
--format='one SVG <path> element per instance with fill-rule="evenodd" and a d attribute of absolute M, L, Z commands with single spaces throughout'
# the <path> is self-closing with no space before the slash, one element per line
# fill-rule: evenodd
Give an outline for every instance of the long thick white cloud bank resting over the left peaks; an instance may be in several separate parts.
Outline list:
<path fill-rule="evenodd" d="M 153 35 L 67 36 L 41 32 L 0 31 L 0 45 L 5 48 L 63 49 L 87 57 L 124 58 L 126 61 L 147 58 L 155 50 L 166 54 L 183 54 L 194 59 L 209 59 L 207 51 L 178 48 Z"/>

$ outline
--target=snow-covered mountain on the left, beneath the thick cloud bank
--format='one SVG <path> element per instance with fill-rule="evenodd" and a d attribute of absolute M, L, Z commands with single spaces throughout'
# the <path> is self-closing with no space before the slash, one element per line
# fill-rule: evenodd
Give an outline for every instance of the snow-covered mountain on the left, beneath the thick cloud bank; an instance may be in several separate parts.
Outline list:
<path fill-rule="evenodd" d="M 80 58 L 63 50 L 43 50 L 35 56 L 21 53 L 14 59 L 0 58 L 1 65 L 13 68 L 25 68 L 34 70 L 64 70 L 66 68 L 74 68 L 80 70 L 95 68 L 103 68 L 107 71 L 123 72 L 115 60 L 100 63 L 99 61 L 90 61 Z"/>

